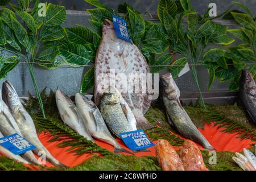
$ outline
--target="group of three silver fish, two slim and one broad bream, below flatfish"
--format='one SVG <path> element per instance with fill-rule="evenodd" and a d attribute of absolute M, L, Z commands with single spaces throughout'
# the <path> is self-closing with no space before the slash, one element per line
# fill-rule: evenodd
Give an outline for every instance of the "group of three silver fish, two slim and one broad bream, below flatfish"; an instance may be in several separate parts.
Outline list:
<path fill-rule="evenodd" d="M 119 137 L 119 133 L 137 130 L 135 117 L 117 89 L 110 86 L 105 90 L 101 98 L 101 112 L 82 94 L 77 93 L 75 101 L 76 105 L 60 89 L 56 90 L 56 104 L 66 125 L 92 142 L 94 137 L 111 144 L 115 153 L 133 154 L 122 148 L 110 134 L 112 131 Z"/>

